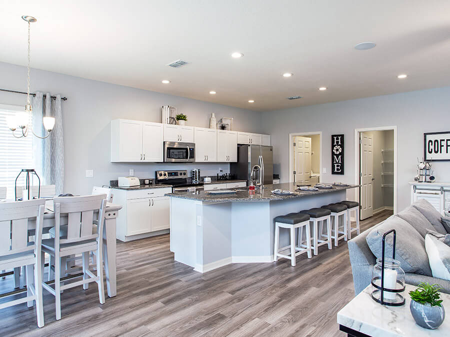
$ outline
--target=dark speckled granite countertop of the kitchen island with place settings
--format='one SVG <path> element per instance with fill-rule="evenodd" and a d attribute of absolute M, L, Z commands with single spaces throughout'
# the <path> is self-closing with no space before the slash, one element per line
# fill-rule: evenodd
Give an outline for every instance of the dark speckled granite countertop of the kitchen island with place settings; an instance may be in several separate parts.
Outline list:
<path fill-rule="evenodd" d="M 270 184 L 264 185 L 262 189 L 262 193 L 259 192 L 258 189 L 255 190 L 254 194 L 248 191 L 248 187 L 236 187 L 231 190 L 236 191 L 236 194 L 223 194 L 223 195 L 211 195 L 205 191 L 197 191 L 197 192 L 180 192 L 180 193 L 167 193 L 167 196 L 174 198 L 182 198 L 182 199 L 191 199 L 201 201 L 205 204 L 219 204 L 225 202 L 233 202 L 233 201 L 276 201 L 276 200 L 287 200 L 294 198 L 302 198 L 313 196 L 317 194 L 324 193 L 332 193 L 336 191 L 342 191 L 349 188 L 356 188 L 359 185 L 348 185 L 348 186 L 333 186 L 332 189 L 319 189 L 318 191 L 306 191 L 306 192 L 297 192 L 295 189 L 297 186 L 291 183 L 282 183 L 282 184 Z M 294 192 L 294 195 L 274 195 L 271 193 L 272 190 L 282 189 L 289 190 Z"/>

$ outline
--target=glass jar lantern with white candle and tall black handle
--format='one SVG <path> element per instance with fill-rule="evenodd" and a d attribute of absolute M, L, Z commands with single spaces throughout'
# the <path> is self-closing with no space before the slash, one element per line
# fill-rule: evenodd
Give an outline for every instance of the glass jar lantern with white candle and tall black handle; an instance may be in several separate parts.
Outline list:
<path fill-rule="evenodd" d="M 392 258 L 384 257 L 384 241 L 388 234 L 393 233 Z M 374 301 L 386 306 L 404 305 L 404 271 L 400 262 L 395 260 L 395 230 L 392 229 L 383 235 L 381 258 L 376 259 L 372 270 L 372 292 Z"/>

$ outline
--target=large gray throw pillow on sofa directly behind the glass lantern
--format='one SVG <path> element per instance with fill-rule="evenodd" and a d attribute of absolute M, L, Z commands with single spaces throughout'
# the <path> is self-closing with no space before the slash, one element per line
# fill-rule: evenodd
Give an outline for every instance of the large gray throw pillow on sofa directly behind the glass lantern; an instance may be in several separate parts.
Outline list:
<path fill-rule="evenodd" d="M 411 225 L 397 216 L 374 227 L 365 238 L 372 254 L 376 258 L 381 257 L 383 234 L 391 229 L 396 232 L 395 260 L 400 262 L 403 271 L 431 276 L 425 251 L 425 240 Z M 386 237 L 386 257 L 392 257 L 392 238 L 392 234 Z"/>

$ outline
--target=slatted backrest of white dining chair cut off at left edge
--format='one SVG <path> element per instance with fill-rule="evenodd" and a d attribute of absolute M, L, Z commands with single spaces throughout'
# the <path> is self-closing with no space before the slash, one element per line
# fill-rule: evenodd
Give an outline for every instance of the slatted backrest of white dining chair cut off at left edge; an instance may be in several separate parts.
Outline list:
<path fill-rule="evenodd" d="M 0 256 L 36 248 L 28 245 L 28 219 L 35 218 L 42 232 L 44 205 L 44 199 L 0 203 Z"/>

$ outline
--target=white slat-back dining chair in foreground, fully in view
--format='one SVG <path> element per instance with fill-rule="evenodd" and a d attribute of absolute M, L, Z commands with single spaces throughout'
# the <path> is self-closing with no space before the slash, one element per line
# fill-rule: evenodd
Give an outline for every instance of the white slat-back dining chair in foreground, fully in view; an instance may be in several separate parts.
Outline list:
<path fill-rule="evenodd" d="M 54 204 L 54 239 L 42 240 L 42 261 L 44 253 L 53 257 L 54 288 L 42 283 L 42 286 L 55 297 L 56 320 L 61 319 L 62 290 L 82 285 L 87 289 L 88 283 L 96 282 L 100 304 L 104 303 L 103 287 L 103 223 L 106 195 L 90 195 L 81 197 L 56 197 Z M 98 210 L 98 231 L 93 230 L 93 213 Z M 67 225 L 60 225 L 61 214 L 67 216 Z M 64 228 L 65 227 L 65 228 Z M 62 229 L 62 231 L 61 231 Z M 67 233 L 61 236 L 62 233 Z M 99 234 L 100 233 L 100 234 Z M 96 275 L 89 270 L 89 252 L 95 251 Z M 82 254 L 83 280 L 61 284 L 65 266 L 61 266 L 61 258 Z M 64 264 L 62 262 L 62 264 Z M 67 281 L 65 281 L 67 282 Z"/>

